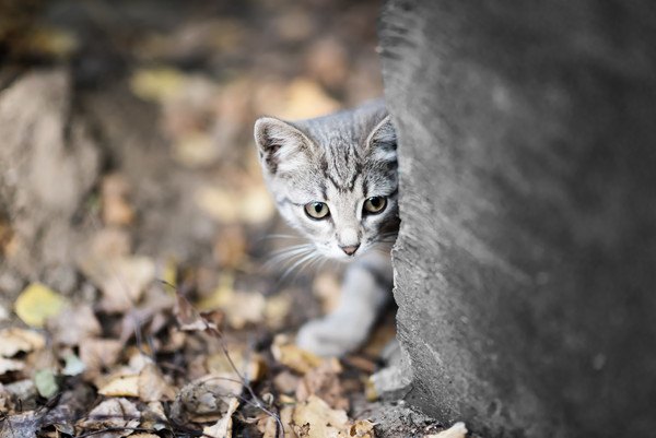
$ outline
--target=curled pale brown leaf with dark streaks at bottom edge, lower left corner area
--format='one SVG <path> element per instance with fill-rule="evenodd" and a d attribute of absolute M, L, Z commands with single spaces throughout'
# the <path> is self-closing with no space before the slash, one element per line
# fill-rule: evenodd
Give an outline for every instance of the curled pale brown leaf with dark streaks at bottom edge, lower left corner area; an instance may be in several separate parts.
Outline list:
<path fill-rule="evenodd" d="M 80 426 L 93 430 L 116 429 L 94 434 L 99 438 L 121 438 L 132 433 L 139 426 L 141 414 L 137 406 L 126 399 L 105 400 L 94 407 L 89 416 L 80 422 Z"/>

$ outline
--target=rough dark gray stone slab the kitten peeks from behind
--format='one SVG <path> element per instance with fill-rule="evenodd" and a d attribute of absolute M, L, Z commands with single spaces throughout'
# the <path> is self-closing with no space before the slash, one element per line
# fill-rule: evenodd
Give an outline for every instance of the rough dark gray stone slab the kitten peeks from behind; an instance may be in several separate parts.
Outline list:
<path fill-rule="evenodd" d="M 488 437 L 656 429 L 656 9 L 394 0 L 408 400 Z"/>

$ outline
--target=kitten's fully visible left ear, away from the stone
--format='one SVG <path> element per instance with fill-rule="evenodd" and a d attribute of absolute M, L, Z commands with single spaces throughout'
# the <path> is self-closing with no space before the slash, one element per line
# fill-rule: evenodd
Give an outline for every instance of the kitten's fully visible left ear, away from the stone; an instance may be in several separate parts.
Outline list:
<path fill-rule="evenodd" d="M 292 125 L 273 117 L 261 117 L 255 122 L 255 142 L 266 171 L 276 175 L 281 162 L 304 149 L 312 147 L 307 137 Z"/>

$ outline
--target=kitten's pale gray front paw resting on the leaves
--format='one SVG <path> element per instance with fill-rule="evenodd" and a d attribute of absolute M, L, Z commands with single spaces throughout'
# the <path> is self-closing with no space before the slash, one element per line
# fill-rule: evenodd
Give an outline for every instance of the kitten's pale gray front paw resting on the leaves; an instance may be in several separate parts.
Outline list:
<path fill-rule="evenodd" d="M 354 325 L 351 319 L 328 316 L 303 325 L 296 335 L 296 345 L 317 356 L 343 356 L 366 340 L 366 325 Z"/>

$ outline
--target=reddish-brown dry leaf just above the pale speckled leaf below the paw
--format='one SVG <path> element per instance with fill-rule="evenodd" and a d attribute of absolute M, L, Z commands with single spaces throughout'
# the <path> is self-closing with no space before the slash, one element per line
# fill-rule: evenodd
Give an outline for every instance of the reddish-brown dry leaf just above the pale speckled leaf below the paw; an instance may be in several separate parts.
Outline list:
<path fill-rule="evenodd" d="M 311 395 L 317 395 L 336 410 L 349 410 L 349 399 L 344 396 L 339 374 L 342 371 L 336 358 L 324 362 L 303 376 L 296 388 L 296 399 L 306 401 Z"/>

